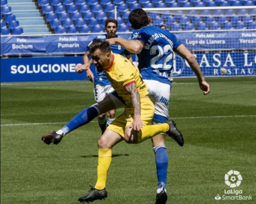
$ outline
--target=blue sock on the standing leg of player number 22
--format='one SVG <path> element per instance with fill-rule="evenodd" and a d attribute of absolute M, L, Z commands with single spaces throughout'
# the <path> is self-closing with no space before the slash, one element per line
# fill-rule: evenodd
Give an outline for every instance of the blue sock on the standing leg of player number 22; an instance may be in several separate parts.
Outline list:
<path fill-rule="evenodd" d="M 168 155 L 165 145 L 159 145 L 153 148 L 155 153 L 156 173 L 158 178 L 158 189 L 166 188 Z"/>

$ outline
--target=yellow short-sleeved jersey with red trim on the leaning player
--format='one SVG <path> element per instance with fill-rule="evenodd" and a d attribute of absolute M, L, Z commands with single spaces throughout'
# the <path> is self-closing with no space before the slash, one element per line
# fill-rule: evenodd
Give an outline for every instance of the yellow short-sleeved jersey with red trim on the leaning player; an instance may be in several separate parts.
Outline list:
<path fill-rule="evenodd" d="M 124 99 L 127 106 L 132 106 L 132 95 L 125 89 L 128 85 L 136 83 L 140 98 L 148 95 L 147 85 L 143 82 L 139 69 L 126 57 L 112 54 L 112 62 L 105 73 L 113 89 Z"/>

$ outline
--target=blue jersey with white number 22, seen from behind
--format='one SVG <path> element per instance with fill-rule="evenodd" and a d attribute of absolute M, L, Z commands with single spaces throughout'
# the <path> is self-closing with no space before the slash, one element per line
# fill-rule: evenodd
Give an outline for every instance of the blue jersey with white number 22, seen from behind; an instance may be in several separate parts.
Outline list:
<path fill-rule="evenodd" d="M 139 70 L 143 79 L 152 79 L 171 85 L 173 51 L 181 41 L 169 32 L 154 26 L 146 26 L 132 33 L 132 40 L 140 40 L 144 47 L 137 54 Z"/>

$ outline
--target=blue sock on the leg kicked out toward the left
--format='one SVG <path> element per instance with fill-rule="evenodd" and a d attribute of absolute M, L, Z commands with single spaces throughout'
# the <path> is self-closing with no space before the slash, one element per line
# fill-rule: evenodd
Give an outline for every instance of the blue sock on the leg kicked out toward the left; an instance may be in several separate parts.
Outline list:
<path fill-rule="evenodd" d="M 96 118 L 101 113 L 101 108 L 98 104 L 94 104 L 89 108 L 83 109 L 79 114 L 75 115 L 63 128 L 60 129 L 65 134 L 83 126 Z"/>

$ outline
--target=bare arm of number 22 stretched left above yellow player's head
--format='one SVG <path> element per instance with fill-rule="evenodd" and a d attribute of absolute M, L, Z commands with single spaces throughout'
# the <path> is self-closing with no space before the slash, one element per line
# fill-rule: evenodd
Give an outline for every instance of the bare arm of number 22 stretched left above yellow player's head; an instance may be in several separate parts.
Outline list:
<path fill-rule="evenodd" d="M 120 37 L 115 37 L 115 38 L 110 38 L 107 39 L 106 41 L 109 42 L 110 45 L 121 45 L 122 47 L 124 47 L 126 50 L 128 50 L 131 53 L 135 53 L 138 54 L 141 52 L 141 50 L 143 49 L 144 45 L 141 41 L 139 40 L 125 40 L 123 38 Z"/>

